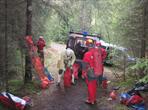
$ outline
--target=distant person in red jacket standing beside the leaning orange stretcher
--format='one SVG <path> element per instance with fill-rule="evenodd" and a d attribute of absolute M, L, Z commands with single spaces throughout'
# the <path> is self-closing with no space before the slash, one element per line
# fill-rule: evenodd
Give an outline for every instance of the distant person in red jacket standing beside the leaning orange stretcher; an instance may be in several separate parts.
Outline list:
<path fill-rule="evenodd" d="M 42 64 L 44 65 L 44 47 L 46 46 L 46 42 L 43 38 L 43 36 L 40 36 L 37 41 L 37 48 L 38 48 L 38 54 L 41 58 Z"/>

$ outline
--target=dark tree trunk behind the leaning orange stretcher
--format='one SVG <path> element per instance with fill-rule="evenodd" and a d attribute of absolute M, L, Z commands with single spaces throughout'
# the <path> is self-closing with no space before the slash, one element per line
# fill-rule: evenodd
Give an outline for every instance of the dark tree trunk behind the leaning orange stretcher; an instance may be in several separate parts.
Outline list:
<path fill-rule="evenodd" d="M 26 10 L 26 36 L 32 35 L 32 0 L 27 0 Z M 26 49 L 28 50 L 28 49 Z M 25 83 L 32 81 L 32 66 L 29 52 L 26 51 L 25 56 Z"/>

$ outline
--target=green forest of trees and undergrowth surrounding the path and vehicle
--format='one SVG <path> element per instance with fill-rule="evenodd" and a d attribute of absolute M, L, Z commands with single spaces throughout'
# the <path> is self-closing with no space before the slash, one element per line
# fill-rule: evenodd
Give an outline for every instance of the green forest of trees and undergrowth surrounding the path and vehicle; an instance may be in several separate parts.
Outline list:
<path fill-rule="evenodd" d="M 122 69 L 107 67 L 112 77 L 119 71 L 124 73 L 111 85 L 130 88 L 143 79 L 148 83 L 148 0 L 0 0 L 0 92 L 22 97 L 22 88 L 27 95 L 42 91 L 36 86 L 38 81 L 34 82 L 36 71 L 26 36 L 32 36 L 34 42 L 43 36 L 48 50 L 53 42 L 66 44 L 71 31 L 99 34 L 105 42 L 127 48 L 136 58 L 134 64 Z M 45 65 L 53 66 L 52 60 L 50 53 Z"/>

